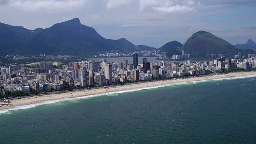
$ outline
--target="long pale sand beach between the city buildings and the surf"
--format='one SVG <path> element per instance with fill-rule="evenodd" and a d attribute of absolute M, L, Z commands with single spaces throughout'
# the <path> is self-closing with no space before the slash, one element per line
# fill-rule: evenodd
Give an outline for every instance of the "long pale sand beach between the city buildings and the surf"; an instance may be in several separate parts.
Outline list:
<path fill-rule="evenodd" d="M 2 109 L 9 109 L 14 108 L 16 106 L 25 106 L 30 104 L 36 104 L 36 103 L 42 103 L 46 101 L 54 101 L 54 100 L 61 100 L 65 98 L 78 98 L 82 96 L 90 96 L 90 95 L 96 95 L 96 94 L 105 94 L 109 92 L 118 92 L 123 90 L 132 90 L 132 89 L 138 89 L 138 88 L 148 88 L 148 87 L 154 87 L 154 86 L 161 86 L 161 85 L 170 85 L 175 83 L 182 83 L 182 82 L 194 82 L 194 81 L 203 81 L 203 80 L 214 80 L 214 79 L 220 79 L 220 78 L 231 78 L 231 77 L 238 77 L 238 76 L 249 76 L 249 75 L 256 75 L 256 72 L 233 72 L 228 74 L 215 74 L 210 76 L 202 76 L 202 77 L 192 77 L 192 78 L 178 78 L 176 80 L 160 80 L 160 81 L 154 81 L 154 82 L 138 82 L 137 84 L 125 84 L 120 86 L 109 86 L 109 87 L 102 87 L 97 89 L 85 89 L 80 91 L 70 91 L 65 92 L 61 94 L 48 94 L 43 96 L 32 96 L 28 98 L 21 98 L 21 99 L 15 99 L 10 100 L 10 102 L 13 104 L 11 106 L 2 106 L 0 107 L 0 110 Z"/>

